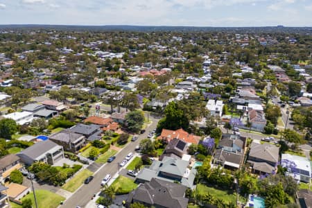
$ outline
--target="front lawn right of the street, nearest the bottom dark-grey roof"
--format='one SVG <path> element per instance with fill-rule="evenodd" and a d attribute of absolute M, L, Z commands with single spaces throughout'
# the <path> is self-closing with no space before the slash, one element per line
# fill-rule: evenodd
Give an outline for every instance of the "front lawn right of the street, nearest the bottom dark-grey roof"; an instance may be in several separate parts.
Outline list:
<path fill-rule="evenodd" d="M 137 184 L 128 177 L 119 175 L 119 177 L 114 180 L 112 187 L 116 190 L 116 194 L 129 193 L 133 189 L 137 188 Z"/>

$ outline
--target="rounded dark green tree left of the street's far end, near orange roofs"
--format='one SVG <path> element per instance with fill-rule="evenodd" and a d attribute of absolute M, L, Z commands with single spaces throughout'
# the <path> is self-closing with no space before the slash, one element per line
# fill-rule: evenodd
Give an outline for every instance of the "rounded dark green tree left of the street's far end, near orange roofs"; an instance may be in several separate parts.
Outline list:
<path fill-rule="evenodd" d="M 143 126 L 144 119 L 143 112 L 139 110 L 128 112 L 128 114 L 125 115 L 125 122 L 130 132 L 139 132 Z"/>

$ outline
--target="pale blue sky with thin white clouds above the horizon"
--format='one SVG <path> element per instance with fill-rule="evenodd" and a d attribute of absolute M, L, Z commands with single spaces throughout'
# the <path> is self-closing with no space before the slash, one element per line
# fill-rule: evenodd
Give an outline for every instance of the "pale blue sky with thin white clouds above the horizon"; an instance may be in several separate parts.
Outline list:
<path fill-rule="evenodd" d="M 312 26 L 312 0 L 0 0 L 0 24 Z"/>

